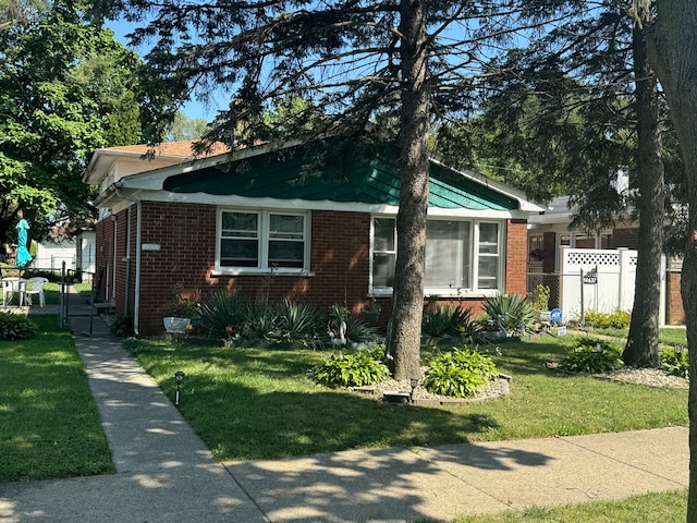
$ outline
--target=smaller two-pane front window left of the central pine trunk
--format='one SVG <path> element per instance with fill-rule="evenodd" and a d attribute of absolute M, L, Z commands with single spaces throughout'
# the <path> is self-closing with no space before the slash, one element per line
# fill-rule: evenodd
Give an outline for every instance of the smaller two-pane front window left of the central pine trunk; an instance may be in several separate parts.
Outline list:
<path fill-rule="evenodd" d="M 308 217 L 277 210 L 219 211 L 218 266 L 230 269 L 308 268 Z"/>

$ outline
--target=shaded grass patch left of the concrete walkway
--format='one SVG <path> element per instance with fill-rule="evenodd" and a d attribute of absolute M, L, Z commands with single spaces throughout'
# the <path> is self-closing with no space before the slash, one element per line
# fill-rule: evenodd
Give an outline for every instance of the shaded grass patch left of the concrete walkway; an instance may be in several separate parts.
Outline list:
<path fill-rule="evenodd" d="M 84 365 L 58 316 L 35 339 L 0 341 L 0 482 L 113 473 Z"/>

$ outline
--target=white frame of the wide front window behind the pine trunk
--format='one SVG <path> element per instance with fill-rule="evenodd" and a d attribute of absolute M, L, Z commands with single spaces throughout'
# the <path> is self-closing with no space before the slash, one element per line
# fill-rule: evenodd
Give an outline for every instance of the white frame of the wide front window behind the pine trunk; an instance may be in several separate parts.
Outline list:
<path fill-rule="evenodd" d="M 391 287 L 375 287 L 372 282 L 372 260 L 375 251 L 375 219 L 376 218 L 389 218 L 395 219 L 392 215 L 371 215 L 370 216 L 370 273 L 369 273 L 369 294 L 372 296 L 391 296 L 393 289 Z M 437 220 L 438 217 L 429 217 L 429 220 Z M 448 220 L 454 220 L 457 218 L 448 217 Z M 506 220 L 496 220 L 496 219 L 473 219 L 473 218 L 462 218 L 460 221 L 464 221 L 469 223 L 470 230 L 470 245 L 469 245 L 469 283 L 468 288 L 425 288 L 424 295 L 427 296 L 443 296 L 443 297 L 465 297 L 467 295 L 496 295 L 504 292 L 505 287 L 505 224 Z M 479 289 L 478 280 L 479 280 L 479 226 L 481 223 L 496 223 L 498 226 L 498 244 L 497 244 L 497 254 L 482 254 L 482 256 L 496 256 L 498 257 L 497 264 L 497 288 L 496 289 Z M 395 250 L 396 250 L 396 220 L 395 220 Z M 379 251 L 382 252 L 382 251 Z"/>

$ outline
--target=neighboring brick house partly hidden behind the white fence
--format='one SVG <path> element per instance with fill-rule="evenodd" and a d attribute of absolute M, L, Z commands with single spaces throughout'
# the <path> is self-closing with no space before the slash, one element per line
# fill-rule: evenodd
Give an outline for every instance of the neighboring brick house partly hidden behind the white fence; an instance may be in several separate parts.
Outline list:
<path fill-rule="evenodd" d="M 549 284 L 552 294 L 559 292 L 559 289 L 553 287 L 554 282 L 559 282 L 559 272 L 563 270 L 563 248 L 636 250 L 638 246 L 636 223 L 624 223 L 614 229 L 599 231 L 597 234 L 570 230 L 568 196 L 554 198 L 541 212 L 530 214 L 528 222 L 528 294 L 535 293 L 538 282 Z M 682 263 L 678 259 L 668 259 L 662 305 L 665 311 L 665 324 L 676 325 L 685 321 L 680 291 L 681 270 Z"/>

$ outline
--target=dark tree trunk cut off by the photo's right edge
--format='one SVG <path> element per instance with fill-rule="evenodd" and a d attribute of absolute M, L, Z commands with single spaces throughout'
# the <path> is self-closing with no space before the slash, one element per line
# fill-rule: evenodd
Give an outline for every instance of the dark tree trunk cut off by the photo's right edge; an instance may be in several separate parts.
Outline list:
<path fill-rule="evenodd" d="M 650 28 L 649 59 L 671 108 L 685 162 L 689 230 L 681 276 L 689 366 L 697 368 L 697 2 L 657 0 L 658 22 Z M 697 372 L 690 373 L 689 492 L 687 523 L 697 523 Z"/>

